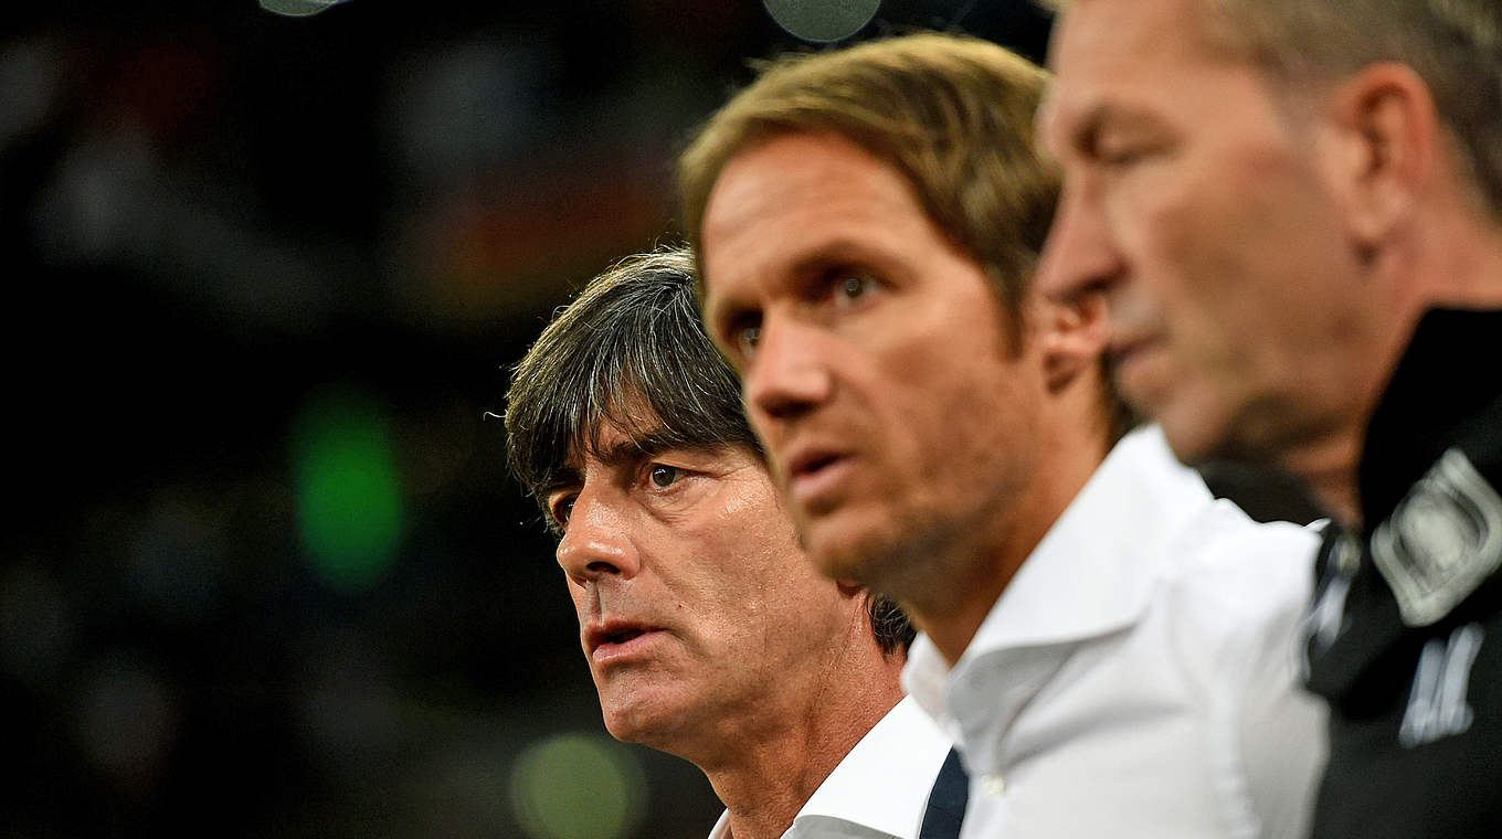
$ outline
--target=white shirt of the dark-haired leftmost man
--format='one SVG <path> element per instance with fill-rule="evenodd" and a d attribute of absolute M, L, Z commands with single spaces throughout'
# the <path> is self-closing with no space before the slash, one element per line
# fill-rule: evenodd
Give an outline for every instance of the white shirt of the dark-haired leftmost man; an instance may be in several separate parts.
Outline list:
<path fill-rule="evenodd" d="M 951 747 L 933 719 L 904 698 L 819 785 L 783 839 L 916 839 Z M 727 836 L 728 812 L 709 839 Z"/>

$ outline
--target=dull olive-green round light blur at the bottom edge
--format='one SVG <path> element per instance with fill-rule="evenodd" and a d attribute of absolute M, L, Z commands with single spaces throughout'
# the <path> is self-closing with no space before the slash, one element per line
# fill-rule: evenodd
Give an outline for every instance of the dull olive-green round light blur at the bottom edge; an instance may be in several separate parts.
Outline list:
<path fill-rule="evenodd" d="M 559 734 L 517 759 L 511 800 L 532 839 L 620 839 L 641 819 L 646 780 L 614 740 Z"/>

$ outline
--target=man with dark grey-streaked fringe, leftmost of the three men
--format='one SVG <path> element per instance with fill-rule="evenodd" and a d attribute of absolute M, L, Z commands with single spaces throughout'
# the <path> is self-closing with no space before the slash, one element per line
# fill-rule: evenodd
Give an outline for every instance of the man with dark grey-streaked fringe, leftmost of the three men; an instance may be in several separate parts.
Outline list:
<path fill-rule="evenodd" d="M 625 260 L 562 309 L 517 365 L 506 432 L 605 728 L 704 771 L 727 807 L 712 837 L 957 834 L 964 774 L 898 683 L 913 629 L 810 567 L 686 252 Z"/>

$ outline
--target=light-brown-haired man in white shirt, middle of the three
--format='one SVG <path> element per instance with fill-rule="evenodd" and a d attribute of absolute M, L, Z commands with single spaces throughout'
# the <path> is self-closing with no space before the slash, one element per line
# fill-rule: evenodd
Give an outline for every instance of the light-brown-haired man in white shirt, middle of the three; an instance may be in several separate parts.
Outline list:
<path fill-rule="evenodd" d="M 963 836 L 1299 836 L 1316 539 L 1125 434 L 1101 302 L 1033 291 L 1044 80 L 942 35 L 774 63 L 679 164 L 706 326 L 811 560 L 924 629 Z"/>

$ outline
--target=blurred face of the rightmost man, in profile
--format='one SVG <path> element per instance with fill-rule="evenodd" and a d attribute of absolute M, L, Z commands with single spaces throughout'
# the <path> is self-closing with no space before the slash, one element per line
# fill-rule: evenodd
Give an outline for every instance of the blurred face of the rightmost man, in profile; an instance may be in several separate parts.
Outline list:
<path fill-rule="evenodd" d="M 1104 290 L 1122 392 L 1187 461 L 1266 456 L 1352 390 L 1367 297 L 1322 180 L 1322 125 L 1208 36 L 1203 0 L 1080 0 L 1041 114 L 1065 170 L 1039 266 Z M 1347 354 L 1349 356 L 1349 354 Z"/>

